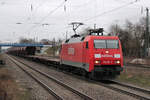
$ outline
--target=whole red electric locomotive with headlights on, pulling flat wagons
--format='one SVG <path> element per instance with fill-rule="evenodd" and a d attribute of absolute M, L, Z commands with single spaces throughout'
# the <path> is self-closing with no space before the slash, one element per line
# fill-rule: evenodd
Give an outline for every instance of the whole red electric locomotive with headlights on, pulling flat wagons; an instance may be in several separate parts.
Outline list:
<path fill-rule="evenodd" d="M 102 29 L 97 29 L 66 40 L 61 47 L 60 64 L 94 79 L 115 78 L 123 71 L 121 43 L 117 36 L 102 35 Z"/>

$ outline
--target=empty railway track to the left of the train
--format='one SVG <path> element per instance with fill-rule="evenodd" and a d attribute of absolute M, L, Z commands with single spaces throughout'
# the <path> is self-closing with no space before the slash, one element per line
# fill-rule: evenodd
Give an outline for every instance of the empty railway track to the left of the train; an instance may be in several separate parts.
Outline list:
<path fill-rule="evenodd" d="M 75 100 L 94 100 L 92 97 L 70 87 L 67 84 L 62 83 L 61 81 L 57 80 L 56 78 L 49 76 L 48 74 L 38 70 L 34 69 L 28 64 L 25 64 L 24 62 L 18 60 L 17 58 L 12 58 L 8 56 L 12 62 L 14 62 L 19 68 L 21 68 L 24 72 L 26 72 L 29 76 L 31 76 L 34 80 L 36 80 L 42 87 L 44 87 L 51 95 L 53 95 L 57 100 L 65 100 L 67 97 L 63 97 L 62 95 L 58 94 L 55 90 L 50 87 L 48 84 L 49 82 L 52 83 L 53 81 L 53 87 L 57 87 L 60 89 L 63 89 L 62 91 L 65 91 L 66 93 L 69 93 L 69 95 L 66 94 L 66 96 L 70 96 L 72 99 L 75 98 Z M 23 66 L 23 67 L 22 67 Z M 44 80 L 45 79 L 45 80 Z M 49 81 L 50 80 L 50 81 Z M 54 86 L 56 85 L 57 86 Z"/>

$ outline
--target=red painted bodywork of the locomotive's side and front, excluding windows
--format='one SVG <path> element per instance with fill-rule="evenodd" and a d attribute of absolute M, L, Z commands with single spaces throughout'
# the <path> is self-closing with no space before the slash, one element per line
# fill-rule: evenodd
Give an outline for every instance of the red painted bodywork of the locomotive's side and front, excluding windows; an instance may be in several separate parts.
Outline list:
<path fill-rule="evenodd" d="M 122 47 L 119 40 L 119 49 L 95 49 L 94 39 L 113 39 L 119 40 L 116 36 L 86 36 L 84 41 L 78 43 L 63 43 L 60 53 L 60 59 L 65 61 L 77 62 L 77 63 L 87 63 L 89 64 L 89 72 L 94 69 L 94 65 L 120 65 L 123 67 L 123 56 Z M 86 42 L 89 44 L 89 48 L 86 48 Z M 68 51 L 68 48 L 71 52 Z M 72 49 L 74 48 L 74 50 Z M 74 51 L 74 52 L 73 52 Z M 109 53 L 106 53 L 108 51 Z M 69 53 L 69 54 L 68 54 Z M 114 57 L 101 57 L 95 58 L 94 54 L 101 55 L 113 55 L 120 54 L 120 58 Z M 100 64 L 95 64 L 95 60 L 100 60 Z M 120 64 L 115 64 L 114 61 L 120 60 Z"/>

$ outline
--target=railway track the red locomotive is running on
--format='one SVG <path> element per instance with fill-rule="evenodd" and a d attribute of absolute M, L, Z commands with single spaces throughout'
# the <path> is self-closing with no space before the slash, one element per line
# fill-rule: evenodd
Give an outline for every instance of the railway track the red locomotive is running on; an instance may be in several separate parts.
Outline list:
<path fill-rule="evenodd" d="M 49 64 L 49 65 L 58 67 L 58 65 L 56 65 L 56 64 L 55 65 Z M 105 82 L 94 81 L 94 80 L 86 79 L 86 78 L 83 78 L 81 76 L 72 74 L 70 72 L 64 72 L 64 73 L 69 74 L 69 75 L 76 77 L 78 79 L 83 79 L 87 82 L 91 82 L 93 84 L 104 86 L 106 88 L 112 89 L 112 90 L 117 91 L 119 93 L 123 93 L 123 94 L 129 95 L 129 96 L 132 96 L 132 97 L 140 99 L 140 100 L 150 100 L 150 91 L 149 90 L 145 90 L 145 89 L 142 89 L 139 87 L 127 85 L 125 83 L 120 83 L 117 81 L 107 81 L 107 82 L 106 81 Z"/>

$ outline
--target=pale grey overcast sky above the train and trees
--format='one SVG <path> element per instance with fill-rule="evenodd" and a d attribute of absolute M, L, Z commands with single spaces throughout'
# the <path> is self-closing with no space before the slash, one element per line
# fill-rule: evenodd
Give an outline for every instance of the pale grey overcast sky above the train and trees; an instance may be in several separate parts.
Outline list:
<path fill-rule="evenodd" d="M 65 38 L 74 21 L 85 24 L 78 32 L 94 24 L 109 31 L 112 23 L 137 22 L 146 7 L 150 0 L 0 0 L 0 41 Z"/>

